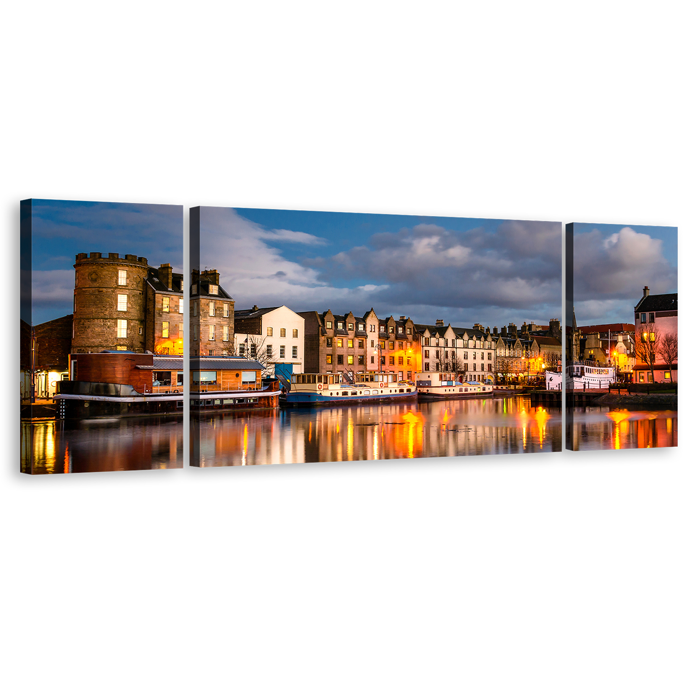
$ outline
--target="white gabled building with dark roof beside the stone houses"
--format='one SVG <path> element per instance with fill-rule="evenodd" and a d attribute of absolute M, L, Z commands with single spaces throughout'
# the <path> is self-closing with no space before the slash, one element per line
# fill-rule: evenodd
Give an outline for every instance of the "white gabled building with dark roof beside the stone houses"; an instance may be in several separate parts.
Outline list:
<path fill-rule="evenodd" d="M 303 372 L 305 320 L 286 306 L 235 311 L 235 353 Z M 266 366 L 267 367 L 267 366 Z M 285 374 L 290 374 L 286 372 Z"/>

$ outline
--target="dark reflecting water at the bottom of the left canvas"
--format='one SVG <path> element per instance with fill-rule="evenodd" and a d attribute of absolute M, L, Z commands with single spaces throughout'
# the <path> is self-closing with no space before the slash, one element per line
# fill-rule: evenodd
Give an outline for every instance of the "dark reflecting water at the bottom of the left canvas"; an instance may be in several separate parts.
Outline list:
<path fill-rule="evenodd" d="M 21 442 L 27 473 L 173 469 L 182 467 L 182 416 L 23 422 Z"/>

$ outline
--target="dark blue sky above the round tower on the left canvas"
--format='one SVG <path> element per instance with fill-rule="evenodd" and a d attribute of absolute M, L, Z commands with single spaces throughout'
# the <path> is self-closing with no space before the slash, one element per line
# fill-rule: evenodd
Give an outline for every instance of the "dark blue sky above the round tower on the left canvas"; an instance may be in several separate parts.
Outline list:
<path fill-rule="evenodd" d="M 31 208 L 34 325 L 73 313 L 77 253 L 135 254 L 182 273 L 182 206 L 34 199 Z"/>

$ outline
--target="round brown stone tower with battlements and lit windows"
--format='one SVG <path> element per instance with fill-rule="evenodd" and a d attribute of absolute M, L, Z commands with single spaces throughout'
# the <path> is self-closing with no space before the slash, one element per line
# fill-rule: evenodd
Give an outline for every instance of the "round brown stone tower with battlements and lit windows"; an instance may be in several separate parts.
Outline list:
<path fill-rule="evenodd" d="M 147 259 L 76 254 L 72 353 L 145 352 Z"/>

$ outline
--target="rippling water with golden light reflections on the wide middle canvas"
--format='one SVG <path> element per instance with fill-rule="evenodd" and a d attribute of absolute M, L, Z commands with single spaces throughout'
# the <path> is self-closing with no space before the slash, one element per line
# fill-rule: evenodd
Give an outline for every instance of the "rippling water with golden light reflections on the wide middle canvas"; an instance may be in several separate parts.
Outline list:
<path fill-rule="evenodd" d="M 200 418 L 200 466 L 520 454 L 561 450 L 559 408 L 509 396 L 348 404 Z"/>

